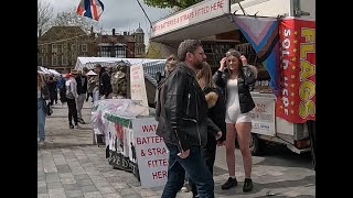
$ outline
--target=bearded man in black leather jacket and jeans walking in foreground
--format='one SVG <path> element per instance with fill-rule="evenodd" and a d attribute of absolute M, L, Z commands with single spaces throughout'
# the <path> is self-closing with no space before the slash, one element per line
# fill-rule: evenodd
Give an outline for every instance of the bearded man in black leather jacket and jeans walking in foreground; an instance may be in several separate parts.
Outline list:
<path fill-rule="evenodd" d="M 206 59 L 197 40 L 185 40 L 178 48 L 179 63 L 163 80 L 158 96 L 157 135 L 169 150 L 168 182 L 162 198 L 175 197 L 184 184 L 185 172 L 194 182 L 200 197 L 214 197 L 213 177 L 201 156 L 207 143 L 207 128 L 217 140 L 222 136 L 207 118 L 207 103 L 195 73 Z M 160 111 L 160 112 L 159 112 Z"/>

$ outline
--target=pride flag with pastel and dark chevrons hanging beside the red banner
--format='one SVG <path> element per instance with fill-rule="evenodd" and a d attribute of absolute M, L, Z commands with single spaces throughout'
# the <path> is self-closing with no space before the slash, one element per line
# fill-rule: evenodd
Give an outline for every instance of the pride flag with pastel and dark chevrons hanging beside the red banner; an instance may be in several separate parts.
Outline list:
<path fill-rule="evenodd" d="M 253 45 L 259 62 L 264 64 L 269 76 L 269 86 L 278 96 L 280 92 L 279 35 L 276 18 L 235 15 L 233 20 L 246 40 Z"/>

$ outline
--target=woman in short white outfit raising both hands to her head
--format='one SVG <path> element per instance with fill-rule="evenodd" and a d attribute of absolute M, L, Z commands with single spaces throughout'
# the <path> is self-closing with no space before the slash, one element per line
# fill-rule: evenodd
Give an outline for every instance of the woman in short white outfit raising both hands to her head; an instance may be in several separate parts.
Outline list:
<path fill-rule="evenodd" d="M 257 69 L 248 65 L 247 59 L 238 51 L 229 50 L 226 57 L 221 61 L 218 70 L 213 79 L 223 88 L 226 98 L 226 162 L 229 178 L 222 185 L 222 189 L 237 186 L 235 177 L 235 140 L 237 140 L 245 170 L 243 191 L 253 190 L 252 180 L 252 153 L 249 148 L 252 135 L 252 118 L 249 111 L 255 108 L 250 89 L 255 85 Z"/>

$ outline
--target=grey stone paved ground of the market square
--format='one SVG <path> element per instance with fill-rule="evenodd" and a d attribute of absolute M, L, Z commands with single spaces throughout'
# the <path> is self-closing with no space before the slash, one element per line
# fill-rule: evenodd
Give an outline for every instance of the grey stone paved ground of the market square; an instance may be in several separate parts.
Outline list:
<path fill-rule="evenodd" d="M 56 105 L 54 113 L 46 118 L 46 144 L 38 150 L 38 197 L 64 198 L 159 198 L 162 187 L 142 189 L 131 174 L 113 169 L 105 158 L 105 147 L 93 145 L 90 124 L 83 129 L 68 129 L 67 108 Z M 83 109 L 89 121 L 90 102 Z M 288 151 L 272 150 L 261 157 L 253 157 L 254 190 L 242 190 L 244 170 L 239 151 L 236 151 L 239 185 L 222 190 L 228 175 L 225 150 L 217 150 L 214 170 L 215 196 L 222 197 L 296 197 L 312 198 L 315 195 L 315 178 L 310 157 L 297 156 Z M 189 198 L 190 193 L 180 193 L 178 198 Z"/>

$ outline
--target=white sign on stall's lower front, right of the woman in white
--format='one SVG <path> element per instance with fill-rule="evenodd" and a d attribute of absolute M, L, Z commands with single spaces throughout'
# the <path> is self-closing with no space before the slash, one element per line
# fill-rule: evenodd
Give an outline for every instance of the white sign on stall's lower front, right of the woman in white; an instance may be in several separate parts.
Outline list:
<path fill-rule="evenodd" d="M 275 98 L 253 97 L 255 108 L 250 111 L 253 133 L 275 136 Z"/>

